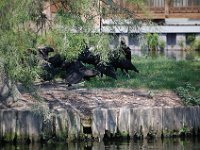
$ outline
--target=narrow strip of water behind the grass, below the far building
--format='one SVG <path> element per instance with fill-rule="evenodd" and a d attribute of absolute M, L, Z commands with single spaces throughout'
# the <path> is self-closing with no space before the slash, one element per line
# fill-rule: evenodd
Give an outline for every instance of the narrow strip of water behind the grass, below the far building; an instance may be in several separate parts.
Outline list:
<path fill-rule="evenodd" d="M 141 51 L 141 50 L 132 50 L 133 55 L 143 56 L 147 55 L 148 51 Z M 164 55 L 167 58 L 174 59 L 174 60 L 193 60 L 193 59 L 200 59 L 200 52 L 198 51 L 182 51 L 182 50 L 164 50 L 153 52 L 150 55 L 152 56 L 159 56 Z"/>

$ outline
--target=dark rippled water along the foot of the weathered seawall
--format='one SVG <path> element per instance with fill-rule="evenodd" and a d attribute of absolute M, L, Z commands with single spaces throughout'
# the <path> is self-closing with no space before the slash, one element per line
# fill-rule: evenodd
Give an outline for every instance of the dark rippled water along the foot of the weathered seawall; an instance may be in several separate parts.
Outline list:
<path fill-rule="evenodd" d="M 30 144 L 12 145 L 1 144 L 2 150 L 199 150 L 200 139 L 154 139 L 154 140 L 129 140 L 129 141 L 107 141 L 107 142 L 71 142 L 65 144 Z"/>

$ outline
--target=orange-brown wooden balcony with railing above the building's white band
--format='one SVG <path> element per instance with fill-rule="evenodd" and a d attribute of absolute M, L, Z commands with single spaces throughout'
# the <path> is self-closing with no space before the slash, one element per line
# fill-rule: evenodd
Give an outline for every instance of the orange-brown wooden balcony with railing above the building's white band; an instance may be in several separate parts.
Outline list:
<path fill-rule="evenodd" d="M 142 6 L 133 6 L 126 0 L 102 0 L 102 4 L 103 9 L 108 10 L 106 13 L 110 15 L 123 14 L 123 10 L 126 9 L 139 19 L 200 19 L 200 0 L 145 0 Z M 107 6 L 109 6 L 108 9 Z"/>

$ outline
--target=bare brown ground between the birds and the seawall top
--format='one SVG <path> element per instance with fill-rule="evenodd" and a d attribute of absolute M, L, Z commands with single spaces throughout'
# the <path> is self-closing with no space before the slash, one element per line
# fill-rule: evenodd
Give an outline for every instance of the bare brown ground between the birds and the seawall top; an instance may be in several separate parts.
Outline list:
<path fill-rule="evenodd" d="M 90 115 L 97 107 L 155 107 L 182 106 L 180 98 L 172 91 L 155 91 L 145 89 L 115 88 L 87 89 L 83 85 L 67 87 L 64 84 L 37 84 L 39 95 L 49 106 L 71 106 L 83 115 Z M 0 104 L 0 109 L 6 107 L 31 107 L 37 100 L 22 92 L 21 99 L 10 105 Z"/>

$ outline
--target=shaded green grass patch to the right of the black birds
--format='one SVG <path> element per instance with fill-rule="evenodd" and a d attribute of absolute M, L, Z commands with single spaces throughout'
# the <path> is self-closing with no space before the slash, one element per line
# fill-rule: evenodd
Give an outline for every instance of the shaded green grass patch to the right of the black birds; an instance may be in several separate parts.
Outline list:
<path fill-rule="evenodd" d="M 167 89 L 176 92 L 182 87 L 192 97 L 200 99 L 200 61 L 175 61 L 165 57 L 134 57 L 132 60 L 139 74 L 130 71 L 128 78 L 118 70 L 117 80 L 109 77 L 94 78 L 85 85 L 90 88 Z"/>

